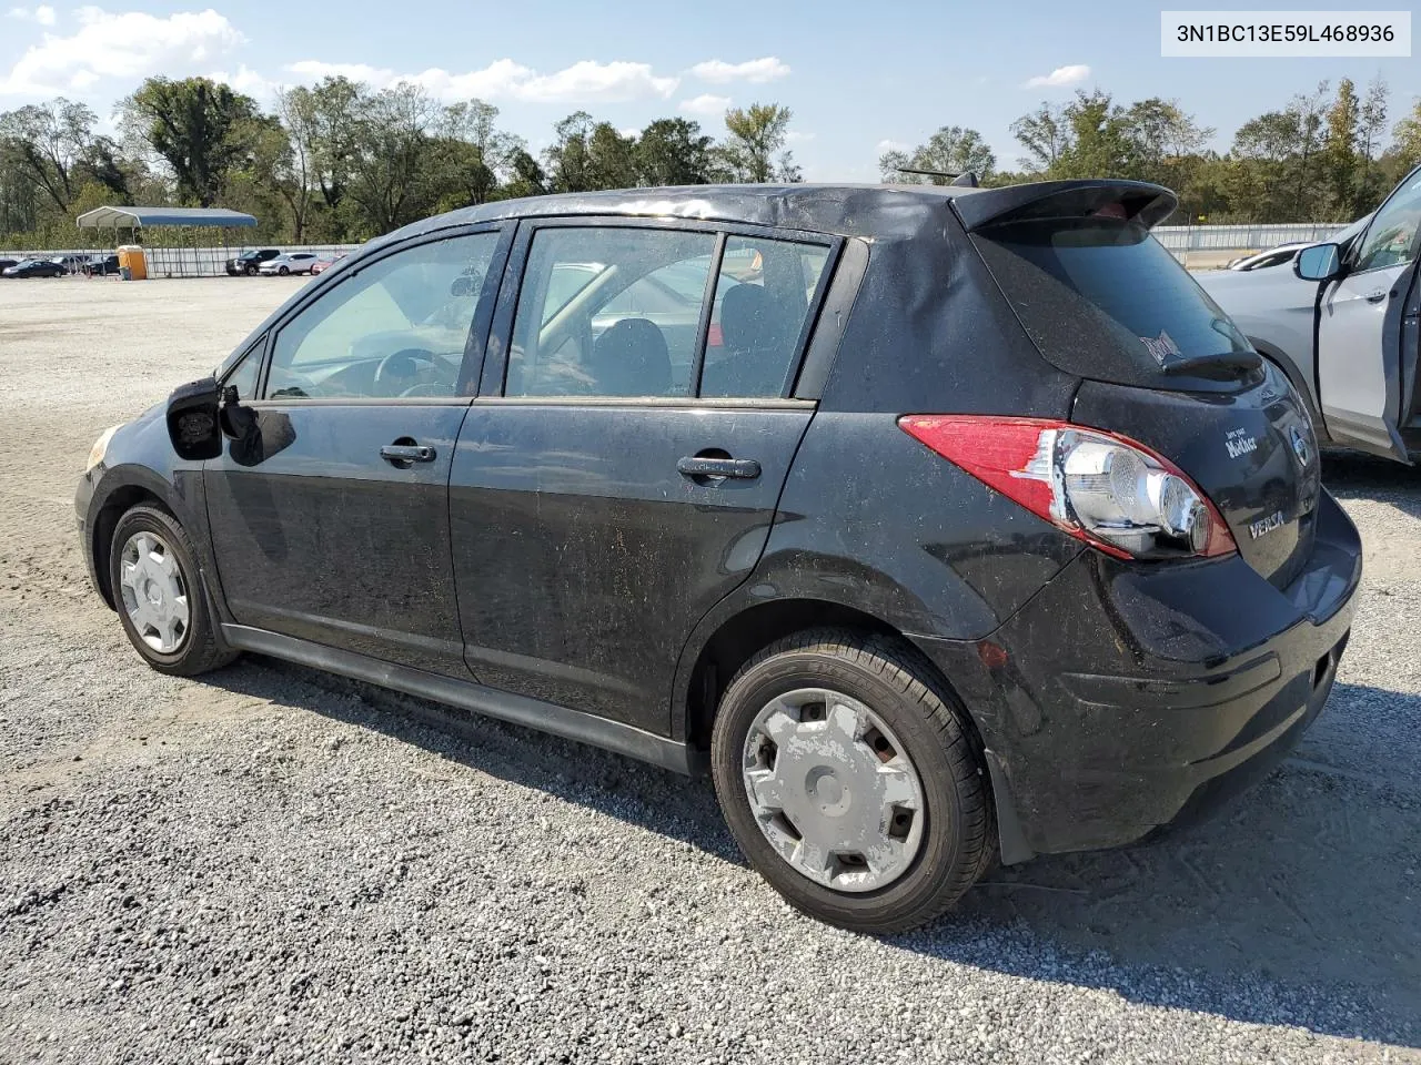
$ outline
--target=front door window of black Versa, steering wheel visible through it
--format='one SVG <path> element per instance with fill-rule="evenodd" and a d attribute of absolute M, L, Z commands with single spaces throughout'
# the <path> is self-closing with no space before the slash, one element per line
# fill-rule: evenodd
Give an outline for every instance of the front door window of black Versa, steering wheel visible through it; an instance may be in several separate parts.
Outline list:
<path fill-rule="evenodd" d="M 455 395 L 497 241 L 416 244 L 341 281 L 276 335 L 267 398 Z"/>

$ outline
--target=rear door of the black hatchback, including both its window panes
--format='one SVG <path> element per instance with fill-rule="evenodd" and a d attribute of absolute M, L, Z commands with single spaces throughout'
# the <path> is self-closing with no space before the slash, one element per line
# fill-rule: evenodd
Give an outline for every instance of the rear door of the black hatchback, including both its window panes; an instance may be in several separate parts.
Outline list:
<path fill-rule="evenodd" d="M 762 253 L 760 278 L 720 270 L 740 246 Z M 757 562 L 813 417 L 791 388 L 836 248 L 701 223 L 522 223 L 522 284 L 500 294 L 450 476 L 482 683 L 668 733 L 676 657 Z M 624 295 L 648 278 L 695 291 L 688 275 L 693 325 Z M 732 298 L 742 287 L 756 293 Z"/>

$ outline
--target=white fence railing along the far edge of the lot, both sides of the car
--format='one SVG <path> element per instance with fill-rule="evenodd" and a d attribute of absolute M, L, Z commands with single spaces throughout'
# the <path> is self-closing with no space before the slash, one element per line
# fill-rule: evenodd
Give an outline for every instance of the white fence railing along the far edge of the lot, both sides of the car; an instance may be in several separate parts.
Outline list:
<path fill-rule="evenodd" d="M 1157 226 L 1155 237 L 1175 258 L 1191 251 L 1262 250 L 1275 244 L 1302 240 L 1326 240 L 1347 223 L 1300 223 L 1268 226 Z M 334 256 L 354 251 L 360 244 L 271 244 L 281 251 L 314 251 Z M 145 247 L 149 277 L 219 277 L 226 261 L 244 247 Z M 60 256 L 108 254 L 112 248 L 67 248 L 63 251 L 0 251 L 0 258 L 58 258 Z"/>

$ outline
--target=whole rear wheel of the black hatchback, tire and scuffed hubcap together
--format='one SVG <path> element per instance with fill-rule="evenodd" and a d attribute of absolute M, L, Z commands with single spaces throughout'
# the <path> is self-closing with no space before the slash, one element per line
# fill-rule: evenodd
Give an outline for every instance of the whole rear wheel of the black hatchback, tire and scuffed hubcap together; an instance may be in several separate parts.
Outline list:
<path fill-rule="evenodd" d="M 878 636 L 818 630 L 762 650 L 720 700 L 710 761 L 750 865 L 830 924 L 924 924 L 996 853 L 965 711 Z"/>

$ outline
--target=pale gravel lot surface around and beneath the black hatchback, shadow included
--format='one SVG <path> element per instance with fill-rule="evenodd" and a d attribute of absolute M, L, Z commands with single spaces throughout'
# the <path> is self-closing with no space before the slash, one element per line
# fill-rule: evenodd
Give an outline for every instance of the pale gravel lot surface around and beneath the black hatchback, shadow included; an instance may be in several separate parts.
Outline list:
<path fill-rule="evenodd" d="M 1229 816 L 860 937 L 782 905 L 705 782 L 139 663 L 84 578 L 84 456 L 296 287 L 0 284 L 0 1061 L 1421 1061 L 1417 471 L 1329 457 L 1351 648 Z"/>

